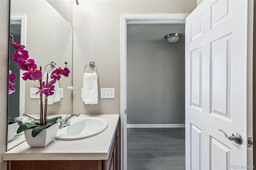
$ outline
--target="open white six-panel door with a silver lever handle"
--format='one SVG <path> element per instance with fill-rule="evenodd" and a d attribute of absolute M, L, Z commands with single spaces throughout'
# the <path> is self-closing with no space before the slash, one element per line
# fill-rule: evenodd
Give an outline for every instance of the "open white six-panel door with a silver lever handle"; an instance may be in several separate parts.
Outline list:
<path fill-rule="evenodd" d="M 247 0 L 204 0 L 186 19 L 186 169 L 246 169 Z M 252 93 L 252 92 L 251 92 Z M 238 132 L 242 144 L 229 140 Z M 247 131 L 248 130 L 248 131 Z M 250 134 L 252 135 L 252 134 Z M 252 137 L 252 136 L 250 136 Z"/>

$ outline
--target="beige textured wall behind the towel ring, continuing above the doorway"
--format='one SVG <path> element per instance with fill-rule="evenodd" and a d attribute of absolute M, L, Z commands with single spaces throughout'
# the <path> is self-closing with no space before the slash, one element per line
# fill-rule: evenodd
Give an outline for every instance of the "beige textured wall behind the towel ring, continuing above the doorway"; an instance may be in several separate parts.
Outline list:
<path fill-rule="evenodd" d="M 120 114 L 120 14 L 190 13 L 196 0 L 84 0 L 73 6 L 73 112 Z M 84 105 L 81 99 L 84 66 L 94 61 L 98 88 L 115 88 L 115 99 Z M 86 67 L 86 71 L 94 71 Z M 100 93 L 99 93 L 100 95 Z"/>

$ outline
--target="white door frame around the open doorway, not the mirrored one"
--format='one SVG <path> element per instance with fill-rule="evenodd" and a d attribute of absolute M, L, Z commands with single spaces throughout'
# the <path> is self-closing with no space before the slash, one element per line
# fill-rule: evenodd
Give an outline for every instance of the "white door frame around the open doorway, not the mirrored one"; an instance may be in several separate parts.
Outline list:
<path fill-rule="evenodd" d="M 120 119 L 121 169 L 127 169 L 127 24 L 185 24 L 189 14 L 121 14 Z"/>

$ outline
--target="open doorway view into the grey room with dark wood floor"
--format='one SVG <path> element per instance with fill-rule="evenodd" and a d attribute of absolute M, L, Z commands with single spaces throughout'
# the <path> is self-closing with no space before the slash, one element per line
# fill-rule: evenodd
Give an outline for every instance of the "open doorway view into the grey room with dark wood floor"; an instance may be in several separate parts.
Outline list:
<path fill-rule="evenodd" d="M 185 169 L 185 24 L 127 24 L 127 113 L 128 170 Z"/>

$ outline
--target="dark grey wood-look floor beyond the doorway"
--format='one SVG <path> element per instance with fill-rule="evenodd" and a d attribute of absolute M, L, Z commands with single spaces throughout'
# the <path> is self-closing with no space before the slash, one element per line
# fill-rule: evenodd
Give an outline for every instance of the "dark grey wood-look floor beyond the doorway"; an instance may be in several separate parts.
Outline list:
<path fill-rule="evenodd" d="M 127 170 L 185 170 L 185 128 L 127 128 Z"/>

